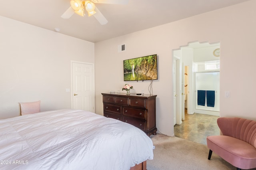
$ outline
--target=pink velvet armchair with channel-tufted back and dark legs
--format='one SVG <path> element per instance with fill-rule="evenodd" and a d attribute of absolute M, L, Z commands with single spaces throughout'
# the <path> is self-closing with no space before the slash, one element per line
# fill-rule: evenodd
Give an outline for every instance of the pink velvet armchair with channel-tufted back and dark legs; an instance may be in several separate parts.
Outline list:
<path fill-rule="evenodd" d="M 256 168 L 256 121 L 220 117 L 217 123 L 223 135 L 207 137 L 208 160 L 213 151 L 237 170 Z"/>

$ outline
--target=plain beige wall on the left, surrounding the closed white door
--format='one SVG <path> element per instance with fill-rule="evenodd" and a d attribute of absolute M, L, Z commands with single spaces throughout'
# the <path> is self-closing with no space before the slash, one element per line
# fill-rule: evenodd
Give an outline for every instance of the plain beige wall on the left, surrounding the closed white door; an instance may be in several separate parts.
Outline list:
<path fill-rule="evenodd" d="M 0 119 L 20 115 L 18 102 L 71 108 L 70 60 L 94 63 L 94 43 L 1 16 L 0 23 Z"/>

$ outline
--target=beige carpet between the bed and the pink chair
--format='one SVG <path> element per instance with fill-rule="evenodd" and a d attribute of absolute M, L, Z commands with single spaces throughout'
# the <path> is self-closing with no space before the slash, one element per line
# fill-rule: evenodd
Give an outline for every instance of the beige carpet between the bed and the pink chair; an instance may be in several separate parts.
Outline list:
<path fill-rule="evenodd" d="M 206 145 L 163 134 L 151 135 L 154 159 L 147 160 L 147 170 L 236 170 L 214 152 L 208 160 Z"/>

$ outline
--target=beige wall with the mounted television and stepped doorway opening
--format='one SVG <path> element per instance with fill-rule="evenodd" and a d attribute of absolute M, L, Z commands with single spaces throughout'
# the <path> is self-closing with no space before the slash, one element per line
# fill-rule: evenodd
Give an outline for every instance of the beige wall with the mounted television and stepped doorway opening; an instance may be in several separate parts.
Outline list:
<path fill-rule="evenodd" d="M 103 114 L 102 92 L 121 90 L 123 60 L 158 54 L 158 80 L 153 83 L 157 95 L 158 132 L 173 135 L 172 50 L 188 42 L 220 42 L 220 116 L 255 119 L 254 67 L 256 40 L 256 1 L 251 0 L 148 30 L 127 34 L 95 44 L 96 113 Z M 118 53 L 117 46 L 126 44 Z M 144 89 L 149 81 L 131 81 L 132 93 Z M 230 98 L 225 98 L 230 91 Z"/>

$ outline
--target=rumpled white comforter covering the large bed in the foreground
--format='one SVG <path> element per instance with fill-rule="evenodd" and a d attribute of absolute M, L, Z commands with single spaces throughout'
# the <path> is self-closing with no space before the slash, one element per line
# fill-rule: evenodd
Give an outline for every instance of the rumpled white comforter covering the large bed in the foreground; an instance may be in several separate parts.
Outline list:
<path fill-rule="evenodd" d="M 0 169 L 128 170 L 152 149 L 142 130 L 81 110 L 0 120 Z"/>

